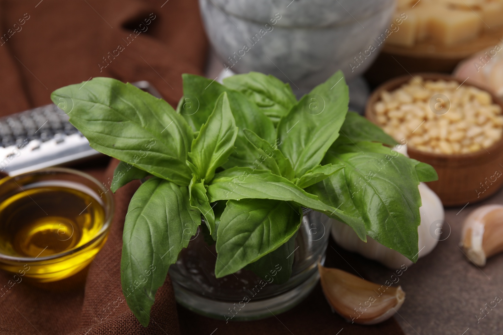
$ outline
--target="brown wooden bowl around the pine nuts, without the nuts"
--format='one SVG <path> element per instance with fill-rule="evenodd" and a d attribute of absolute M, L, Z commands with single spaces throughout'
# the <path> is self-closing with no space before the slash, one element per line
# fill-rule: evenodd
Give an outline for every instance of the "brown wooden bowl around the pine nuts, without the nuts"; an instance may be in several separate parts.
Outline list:
<path fill-rule="evenodd" d="M 455 80 L 450 75 L 440 73 L 416 73 L 425 80 Z M 386 81 L 379 86 L 370 96 L 365 108 L 365 116 L 371 122 L 379 125 L 376 120 L 374 104 L 380 100 L 383 90 L 392 91 L 408 82 L 411 75 L 401 76 Z M 465 85 L 468 85 L 465 83 Z M 480 89 L 484 88 L 472 84 Z M 503 109 L 501 101 L 492 92 L 493 103 L 497 103 Z M 415 150 L 407 147 L 410 158 L 432 165 L 439 175 L 437 181 L 427 183 L 438 194 L 445 206 L 459 206 L 481 201 L 496 193 L 503 185 L 503 138 L 499 139 L 489 148 L 485 148 L 469 154 L 434 154 Z"/>

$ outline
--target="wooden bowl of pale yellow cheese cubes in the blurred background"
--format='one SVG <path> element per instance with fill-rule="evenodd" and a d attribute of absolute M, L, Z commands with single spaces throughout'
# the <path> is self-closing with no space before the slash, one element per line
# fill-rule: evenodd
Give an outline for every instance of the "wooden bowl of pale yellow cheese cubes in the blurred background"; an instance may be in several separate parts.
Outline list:
<path fill-rule="evenodd" d="M 373 84 L 412 72 L 451 73 L 503 37 L 503 0 L 398 0 L 400 29 L 367 74 Z"/>

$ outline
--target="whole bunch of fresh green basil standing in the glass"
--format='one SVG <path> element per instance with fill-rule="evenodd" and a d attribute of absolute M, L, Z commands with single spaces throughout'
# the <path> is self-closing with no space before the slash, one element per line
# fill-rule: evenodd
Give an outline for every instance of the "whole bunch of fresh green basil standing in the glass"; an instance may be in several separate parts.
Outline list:
<path fill-rule="evenodd" d="M 91 147 L 121 161 L 112 191 L 143 179 L 124 222 L 121 282 L 142 325 L 157 289 L 198 227 L 215 241 L 215 275 L 243 268 L 291 274 L 302 207 L 344 222 L 417 260 L 425 163 L 348 112 L 341 71 L 300 100 L 288 84 L 257 72 L 224 79 L 183 75 L 177 110 L 112 78 L 55 90 L 51 98 Z M 61 101 L 67 103 L 61 103 Z M 70 103 L 71 102 L 71 103 Z M 147 281 L 140 282 L 144 274 Z"/>

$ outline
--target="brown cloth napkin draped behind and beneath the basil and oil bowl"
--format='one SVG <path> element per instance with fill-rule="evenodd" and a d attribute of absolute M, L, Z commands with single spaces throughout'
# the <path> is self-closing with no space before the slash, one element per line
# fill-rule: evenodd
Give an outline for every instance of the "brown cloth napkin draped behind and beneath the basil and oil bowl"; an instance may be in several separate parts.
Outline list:
<path fill-rule="evenodd" d="M 134 29 L 141 33 L 136 36 Z M 97 76 L 148 80 L 176 105 L 181 74 L 202 74 L 206 61 L 197 0 L 0 0 L 0 34 L 0 116 L 50 103 L 54 89 Z M 108 162 L 77 168 L 106 181 L 117 164 L 112 160 L 105 168 Z M 402 334 L 394 319 L 370 327 L 346 323 L 330 311 L 319 286 L 284 314 L 225 323 L 177 306 L 169 276 L 143 328 L 120 286 L 124 217 L 138 185 L 115 194 L 108 242 L 88 273 L 43 287 L 25 279 L 0 296 L 0 334 Z M 354 271 L 342 251 L 327 253 L 330 266 Z M 358 266 L 357 271 L 365 273 Z M 1 286 L 11 279 L 0 271 Z"/>

